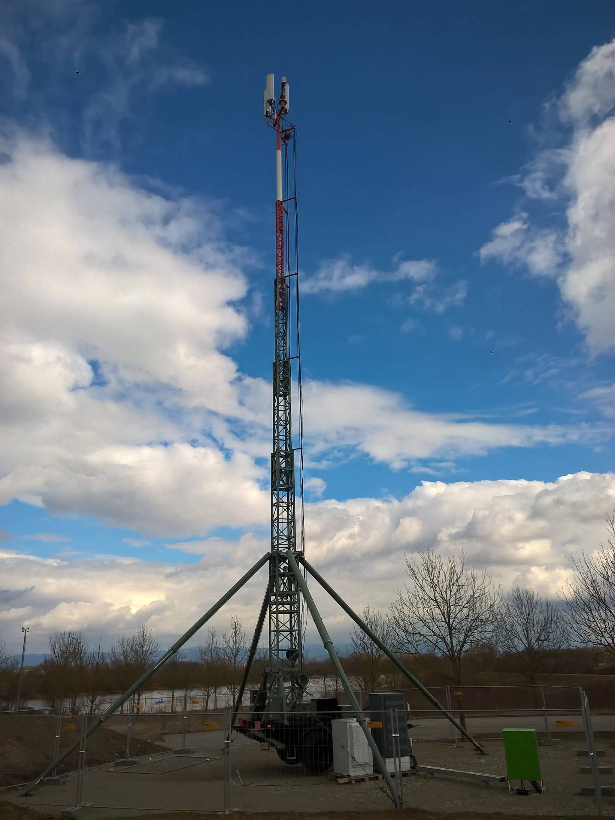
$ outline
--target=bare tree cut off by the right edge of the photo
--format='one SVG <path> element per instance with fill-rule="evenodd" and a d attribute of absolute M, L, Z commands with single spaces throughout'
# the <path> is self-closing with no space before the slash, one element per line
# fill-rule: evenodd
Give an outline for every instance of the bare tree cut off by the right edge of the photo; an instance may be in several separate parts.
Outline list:
<path fill-rule="evenodd" d="M 578 643 L 615 658 L 615 512 L 607 516 L 607 546 L 572 561 L 574 576 L 562 590 L 568 631 Z"/>

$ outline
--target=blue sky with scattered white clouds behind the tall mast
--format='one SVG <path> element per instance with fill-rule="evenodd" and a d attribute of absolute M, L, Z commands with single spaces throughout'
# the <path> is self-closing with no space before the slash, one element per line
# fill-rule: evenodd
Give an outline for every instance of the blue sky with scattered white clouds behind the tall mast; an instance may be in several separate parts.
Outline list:
<path fill-rule="evenodd" d="M 115 635 L 150 617 L 142 607 L 182 594 L 133 600 L 121 585 L 108 591 L 109 580 L 90 600 L 90 573 L 104 565 L 112 579 L 128 566 L 114 557 L 134 559 L 145 588 L 148 561 L 168 578 L 182 565 L 206 572 L 209 560 L 230 578 L 266 546 L 268 71 L 289 80 L 298 130 L 314 554 L 346 584 L 335 521 L 388 511 L 386 543 L 353 536 L 357 554 L 384 550 L 373 602 L 385 606 L 402 572 L 390 544 L 398 558 L 453 549 L 444 531 L 465 531 L 477 510 L 499 522 L 494 499 L 526 492 L 514 482 L 554 497 L 560 476 L 586 473 L 583 491 L 591 481 L 599 489 L 579 502 L 592 512 L 590 526 L 576 517 L 578 535 L 559 538 L 550 514 L 532 530 L 532 496 L 507 508 L 529 528 L 514 535 L 517 558 L 519 544 L 544 542 L 531 560 L 498 558 L 508 544 L 499 524 L 484 544 L 463 541 L 504 584 L 555 594 L 570 553 L 594 549 L 615 497 L 604 307 L 615 298 L 604 239 L 613 202 L 599 182 L 615 167 L 613 4 L 30 2 L 7 3 L 2 16 L 12 93 L 0 182 L 3 212 L 17 214 L 2 265 L 3 361 L 20 417 L 14 425 L 5 408 L 0 527 L 13 534 L 7 560 L 21 567 L 11 590 L 29 589 L 29 556 L 51 562 L 30 603 L 29 592 L 8 595 L 7 640 L 27 618 L 43 640 L 69 610 L 75 626 Z M 575 210 L 588 202 L 602 234 Z M 412 262 L 422 272 L 404 267 Z M 122 265 L 136 271 L 129 285 Z M 210 279 L 194 279 L 194 265 Z M 593 276 L 592 289 L 583 283 Z M 26 361 L 30 375 L 19 369 Z M 30 417 L 33 403 L 40 417 Z M 197 470 L 187 443 L 210 461 Z M 466 488 L 440 511 L 448 523 L 416 512 L 430 492 L 423 481 Z M 476 488 L 490 500 L 476 500 Z M 400 534 L 405 520 L 420 521 L 423 535 L 410 525 Z M 69 565 L 73 586 L 58 597 L 44 567 Z M 84 616 L 81 604 L 98 614 Z M 192 612 L 174 606 L 170 634 Z M 153 628 L 165 612 L 151 614 Z"/>

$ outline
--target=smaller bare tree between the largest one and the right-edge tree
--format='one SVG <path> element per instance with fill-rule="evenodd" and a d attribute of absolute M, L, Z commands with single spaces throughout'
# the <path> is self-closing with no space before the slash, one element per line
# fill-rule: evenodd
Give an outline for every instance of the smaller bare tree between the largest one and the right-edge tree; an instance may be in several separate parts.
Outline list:
<path fill-rule="evenodd" d="M 530 683 L 553 652 L 566 645 L 563 613 L 527 586 L 504 595 L 499 610 L 496 644 L 516 672 Z"/>

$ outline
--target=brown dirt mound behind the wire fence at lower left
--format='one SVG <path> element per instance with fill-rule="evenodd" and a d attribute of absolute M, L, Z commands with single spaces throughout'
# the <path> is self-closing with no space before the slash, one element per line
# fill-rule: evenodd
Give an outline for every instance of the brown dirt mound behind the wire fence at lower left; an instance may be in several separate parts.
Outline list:
<path fill-rule="evenodd" d="M 60 752 L 80 738 L 80 717 L 67 717 L 60 731 Z M 75 728 L 70 728 L 74 726 Z M 16 786 L 37 777 L 53 760 L 57 717 L 47 715 L 0 716 L 0 786 Z M 67 727 L 67 728 L 65 728 Z M 148 740 L 130 741 L 130 754 L 159 754 L 162 747 Z M 86 742 L 87 766 L 98 766 L 126 753 L 126 737 L 102 726 Z M 77 768 L 79 752 L 75 751 L 58 767 L 58 773 Z M 0 815 L 2 816 L 2 815 Z M 3 818 L 3 816 L 2 816 Z"/>

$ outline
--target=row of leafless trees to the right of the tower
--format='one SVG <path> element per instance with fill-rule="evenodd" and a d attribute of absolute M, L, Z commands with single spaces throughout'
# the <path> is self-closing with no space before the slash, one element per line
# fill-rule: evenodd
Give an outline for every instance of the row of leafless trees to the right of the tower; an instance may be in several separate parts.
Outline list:
<path fill-rule="evenodd" d="M 599 662 L 615 660 L 615 517 L 607 517 L 607 546 L 573 561 L 573 578 L 555 603 L 527 586 L 507 594 L 485 571 L 467 567 L 465 555 L 442 558 L 433 551 L 406 558 L 408 581 L 387 615 L 369 607 L 363 620 L 399 654 L 421 658 L 453 684 L 462 682 L 464 660 L 482 649 L 506 658 L 508 671 L 535 683 L 560 650 L 601 650 Z M 362 658 L 365 688 L 375 688 L 385 655 L 355 627 L 353 657 Z M 444 668 L 445 668 L 444 667 Z"/>

